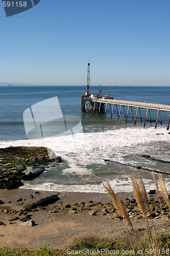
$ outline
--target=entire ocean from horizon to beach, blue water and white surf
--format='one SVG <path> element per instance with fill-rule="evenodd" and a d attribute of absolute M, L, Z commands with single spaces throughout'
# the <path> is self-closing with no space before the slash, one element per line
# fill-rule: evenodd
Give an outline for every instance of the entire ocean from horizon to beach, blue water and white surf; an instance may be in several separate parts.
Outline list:
<path fill-rule="evenodd" d="M 109 94 L 109 87 L 101 87 L 102 95 Z M 86 87 L 84 86 L 84 93 Z M 90 86 L 98 92 L 99 86 Z M 154 189 L 152 170 L 163 175 L 167 189 L 170 184 L 170 134 L 166 130 L 169 113 L 161 112 L 162 126 L 155 122 L 157 112 L 151 110 L 143 127 L 145 112 L 138 114 L 136 125 L 129 111 L 125 123 L 122 110 L 119 120 L 116 109 L 110 118 L 110 109 L 104 114 L 85 114 L 81 111 L 82 86 L 30 86 L 0 87 L 0 147 L 46 146 L 61 156 L 62 162 L 50 164 L 36 179 L 27 181 L 21 189 L 48 191 L 79 191 L 105 193 L 103 182 L 109 181 L 116 193 L 132 191 L 130 177 L 137 178 L 137 166 L 147 190 Z M 170 87 L 111 87 L 114 99 L 170 104 Z M 28 139 L 23 124 L 23 112 L 35 103 L 58 97 L 63 116 L 77 116 L 83 133 Z M 127 112 L 127 108 L 126 108 Z M 133 109 L 133 116 L 136 109 Z M 143 158 L 150 155 L 151 158 Z M 109 161 L 105 161 L 109 160 Z M 29 168 L 29 170 L 32 170 Z M 169 175 L 168 175 L 169 174 Z"/>

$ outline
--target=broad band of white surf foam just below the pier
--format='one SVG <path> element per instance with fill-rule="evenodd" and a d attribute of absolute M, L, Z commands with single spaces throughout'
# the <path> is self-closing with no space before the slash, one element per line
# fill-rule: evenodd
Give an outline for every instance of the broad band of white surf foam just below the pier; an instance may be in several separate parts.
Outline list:
<path fill-rule="evenodd" d="M 160 135 L 156 135 L 159 133 Z M 161 133 L 163 133 L 161 135 Z M 123 128 L 100 133 L 77 133 L 72 137 L 60 136 L 43 139 L 1 141 L 1 147 L 8 146 L 45 146 L 51 148 L 56 155 L 62 157 L 68 163 L 80 163 L 86 166 L 92 163 L 103 163 L 103 159 L 119 160 L 122 155 L 130 153 L 144 153 L 147 143 L 149 150 L 154 149 L 154 142 L 170 141 L 170 136 L 165 127 L 156 130 L 151 127 Z M 142 145 L 145 145 L 144 149 Z M 129 148 L 131 151 L 129 152 Z"/>

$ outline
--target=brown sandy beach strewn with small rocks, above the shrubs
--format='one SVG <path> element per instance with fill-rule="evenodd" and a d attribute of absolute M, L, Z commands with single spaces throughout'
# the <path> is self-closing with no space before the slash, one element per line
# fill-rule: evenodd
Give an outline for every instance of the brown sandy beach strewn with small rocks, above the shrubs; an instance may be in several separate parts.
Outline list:
<path fill-rule="evenodd" d="M 3 236 L 0 239 L 0 247 L 40 248 L 47 246 L 63 249 L 66 245 L 69 247 L 72 239 L 87 234 L 108 238 L 122 237 L 124 240 L 128 240 L 124 222 L 118 216 L 115 217 L 114 207 L 107 194 L 62 193 L 56 203 L 20 214 L 22 209 L 26 209 L 26 206 L 37 202 L 40 198 L 57 194 L 48 191 L 39 191 L 39 194 L 35 194 L 35 192 L 35 190 L 21 188 L 0 191 L 0 198 L 4 202 L 0 205 L 0 221 L 6 224 L 1 225 L 0 234 Z M 127 197 L 133 200 L 131 195 L 119 196 L 125 203 Z M 129 209 L 133 208 L 132 202 L 129 205 L 131 205 L 128 206 Z M 8 213 L 5 213 L 5 210 Z M 145 222 L 137 217 L 139 216 L 138 212 L 133 211 L 130 218 L 134 228 L 139 236 L 144 236 L 146 233 Z M 30 216 L 29 218 L 36 225 L 19 226 L 24 216 Z M 16 220 L 13 220 L 14 218 Z M 149 223 L 151 224 L 151 220 Z M 154 218 L 154 225 L 157 231 L 164 230 L 160 217 Z M 166 221 L 166 226 L 168 230 L 169 221 Z"/>

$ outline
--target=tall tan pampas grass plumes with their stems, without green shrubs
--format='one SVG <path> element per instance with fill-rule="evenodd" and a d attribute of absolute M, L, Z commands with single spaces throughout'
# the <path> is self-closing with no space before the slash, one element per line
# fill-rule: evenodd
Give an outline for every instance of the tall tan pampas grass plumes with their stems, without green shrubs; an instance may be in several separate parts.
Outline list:
<path fill-rule="evenodd" d="M 147 194 L 147 191 L 145 190 L 145 186 L 144 186 L 144 183 L 143 183 L 143 180 L 141 178 L 141 175 L 140 175 L 139 171 L 138 171 L 138 177 L 139 177 L 138 182 L 135 178 L 131 177 L 134 197 L 136 199 L 138 207 L 140 208 L 140 210 L 142 212 L 145 223 L 147 224 L 147 230 L 148 230 L 148 235 L 149 235 L 151 248 L 155 252 L 155 255 L 157 255 L 157 254 L 159 254 L 159 246 L 158 246 L 158 243 L 157 243 L 155 227 L 154 227 L 154 223 L 153 223 L 153 219 L 152 219 L 152 212 L 151 212 L 151 209 L 150 209 L 150 202 L 149 202 L 148 194 Z M 153 178 L 154 178 L 154 181 L 155 181 L 156 190 L 157 190 L 157 193 L 158 193 L 158 196 L 159 196 L 159 202 L 160 202 L 161 211 L 162 211 L 162 204 L 161 204 L 161 200 L 160 200 L 159 187 L 158 187 L 158 184 L 157 184 L 154 173 L 153 173 Z M 159 185 L 160 185 L 160 189 L 161 189 L 161 193 L 163 195 L 163 198 L 164 198 L 164 200 L 165 200 L 165 202 L 168 205 L 168 208 L 170 210 L 170 202 L 169 202 L 169 197 L 168 197 L 168 194 L 167 194 L 167 189 L 165 187 L 165 184 L 164 184 L 164 181 L 163 181 L 163 178 L 162 178 L 161 175 L 159 175 Z M 113 202 L 114 207 L 116 208 L 116 210 L 118 210 L 119 215 L 122 216 L 123 219 L 124 219 L 125 226 L 126 226 L 131 244 L 132 244 L 132 240 L 131 240 L 131 237 L 130 237 L 128 227 L 130 227 L 133 230 L 139 248 L 141 246 L 141 248 L 143 249 L 141 241 L 138 238 L 137 233 L 133 228 L 132 222 L 131 222 L 128 214 L 127 214 L 127 211 L 126 211 L 124 205 L 122 204 L 120 199 L 115 195 L 113 189 L 111 188 L 111 186 L 108 182 L 104 185 L 104 187 L 106 188 L 106 190 L 107 190 L 107 192 L 108 192 L 108 194 L 109 194 L 109 196 L 110 196 L 110 198 Z M 154 236 L 152 236 L 151 227 L 149 225 L 148 218 L 147 218 L 147 211 L 148 210 L 149 210 L 150 215 L 151 215 L 152 226 L 153 226 L 153 230 L 154 230 Z M 163 217 L 163 211 L 162 211 L 162 217 Z M 163 222 L 164 222 L 164 218 L 163 218 Z M 165 222 L 164 222 L 164 228 L 165 228 L 166 241 L 167 241 L 167 233 L 166 233 Z M 132 248 L 134 250 L 133 244 L 132 244 Z M 167 241 L 167 248 L 168 248 L 168 241 Z M 143 253 L 145 254 L 144 249 L 143 249 Z"/>

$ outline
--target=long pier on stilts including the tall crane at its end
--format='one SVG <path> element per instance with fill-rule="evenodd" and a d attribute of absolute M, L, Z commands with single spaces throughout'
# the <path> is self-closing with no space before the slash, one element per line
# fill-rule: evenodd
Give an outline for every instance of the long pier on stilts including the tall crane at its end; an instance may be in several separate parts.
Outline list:
<path fill-rule="evenodd" d="M 128 114 L 129 114 L 130 109 L 131 109 L 131 113 L 132 113 L 132 119 L 134 119 L 132 108 L 133 109 L 135 108 L 136 109 L 136 116 L 135 116 L 134 124 L 136 124 L 138 112 L 140 114 L 140 121 L 142 122 L 140 109 L 146 109 L 146 115 L 145 115 L 144 124 L 143 124 L 143 126 L 145 126 L 145 123 L 147 121 L 148 113 L 149 113 L 149 117 L 150 117 L 150 123 L 152 122 L 151 121 L 150 110 L 156 110 L 157 111 L 157 118 L 156 118 L 156 124 L 155 124 L 155 128 L 156 128 L 157 123 L 158 123 L 158 118 L 160 118 L 160 124 L 162 125 L 160 112 L 161 111 L 168 111 L 169 112 L 169 119 L 168 119 L 168 124 L 167 124 L 167 130 L 169 130 L 170 105 L 147 103 L 147 102 L 138 102 L 138 101 L 116 100 L 116 99 L 113 99 L 113 97 L 110 96 L 110 86 L 109 86 L 109 95 L 105 95 L 105 96 L 102 97 L 101 96 L 101 92 L 102 92 L 101 87 L 99 89 L 99 93 L 90 93 L 89 87 L 90 87 L 90 62 L 88 62 L 88 65 L 87 65 L 87 91 L 86 91 L 85 94 L 81 95 L 81 109 L 86 114 L 91 113 L 91 112 L 93 114 L 95 114 L 95 112 L 98 111 L 98 115 L 100 115 L 100 113 L 103 113 L 106 116 L 107 106 L 109 105 L 110 116 L 112 118 L 113 110 L 114 110 L 114 106 L 115 106 L 116 113 L 117 113 L 117 119 L 119 119 L 120 112 L 123 109 L 124 110 L 124 117 L 125 117 L 125 120 L 127 122 Z M 125 106 L 128 108 L 127 112 L 125 112 Z"/>

